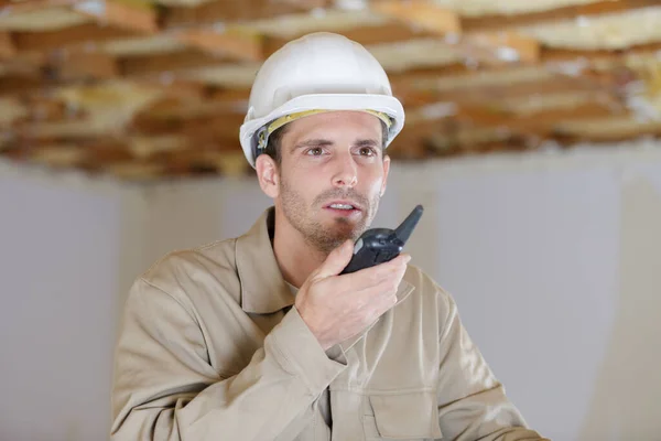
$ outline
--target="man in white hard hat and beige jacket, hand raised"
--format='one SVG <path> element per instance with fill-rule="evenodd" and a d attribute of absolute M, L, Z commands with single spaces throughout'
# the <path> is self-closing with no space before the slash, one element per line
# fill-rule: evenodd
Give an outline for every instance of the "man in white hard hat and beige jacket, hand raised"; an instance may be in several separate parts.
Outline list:
<path fill-rule="evenodd" d="M 274 207 L 136 281 L 113 439 L 542 439 L 410 256 L 339 276 L 403 120 L 382 67 L 343 36 L 307 35 L 264 63 L 240 137 Z"/>

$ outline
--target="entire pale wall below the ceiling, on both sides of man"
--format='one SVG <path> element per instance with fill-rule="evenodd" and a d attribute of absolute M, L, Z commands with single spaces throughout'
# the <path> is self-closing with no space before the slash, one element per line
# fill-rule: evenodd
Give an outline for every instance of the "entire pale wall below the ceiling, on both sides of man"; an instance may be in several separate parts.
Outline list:
<path fill-rule="evenodd" d="M 408 250 L 534 428 L 658 439 L 661 146 L 397 164 L 376 225 L 418 203 Z M 0 439 L 105 439 L 134 277 L 269 204 L 253 181 L 132 187 L 0 166 Z"/>

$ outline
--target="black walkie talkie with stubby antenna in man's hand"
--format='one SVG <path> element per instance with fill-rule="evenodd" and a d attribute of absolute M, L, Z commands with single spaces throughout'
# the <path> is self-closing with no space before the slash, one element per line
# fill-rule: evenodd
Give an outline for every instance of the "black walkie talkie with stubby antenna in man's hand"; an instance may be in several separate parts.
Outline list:
<path fill-rule="evenodd" d="M 398 257 L 418 225 L 422 212 L 422 205 L 418 205 L 397 229 L 371 228 L 365 232 L 356 240 L 354 256 L 340 275 L 356 272 Z"/>

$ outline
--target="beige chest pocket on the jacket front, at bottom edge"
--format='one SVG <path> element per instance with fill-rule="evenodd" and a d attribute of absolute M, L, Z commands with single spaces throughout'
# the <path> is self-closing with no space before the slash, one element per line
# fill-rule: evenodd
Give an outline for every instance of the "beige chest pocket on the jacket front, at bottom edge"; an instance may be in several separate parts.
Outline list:
<path fill-rule="evenodd" d="M 438 440 L 436 396 L 432 391 L 368 395 L 365 397 L 362 427 L 365 439 Z"/>

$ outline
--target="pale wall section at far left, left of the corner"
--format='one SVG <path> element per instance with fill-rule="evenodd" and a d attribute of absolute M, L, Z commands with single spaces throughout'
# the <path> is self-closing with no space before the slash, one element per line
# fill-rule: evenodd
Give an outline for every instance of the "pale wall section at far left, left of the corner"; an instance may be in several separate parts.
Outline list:
<path fill-rule="evenodd" d="M 109 184 L 2 164 L 1 440 L 107 438 L 123 198 Z"/>

